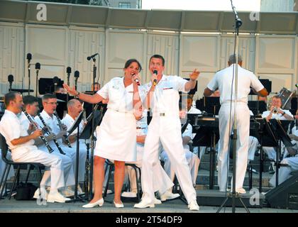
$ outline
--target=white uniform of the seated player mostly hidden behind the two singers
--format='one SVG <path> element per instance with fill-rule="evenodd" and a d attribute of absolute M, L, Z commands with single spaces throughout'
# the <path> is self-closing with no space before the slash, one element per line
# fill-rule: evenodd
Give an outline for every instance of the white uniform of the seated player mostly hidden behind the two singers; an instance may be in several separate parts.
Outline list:
<path fill-rule="evenodd" d="M 147 124 L 147 110 L 143 111 L 143 118 L 140 121 L 136 122 L 137 125 L 137 135 L 147 135 L 148 133 L 148 124 Z M 142 167 L 144 153 L 144 144 L 137 143 L 137 161 L 136 162 L 128 162 L 131 164 L 135 164 L 138 167 Z M 132 167 L 126 166 L 126 173 L 128 175 L 128 179 L 130 181 L 131 192 L 136 192 L 136 172 Z M 172 188 L 174 185 L 172 181 L 167 177 L 165 170 L 162 169 L 160 163 L 153 167 L 153 175 L 155 176 L 155 181 L 153 182 L 154 192 L 159 192 L 160 194 L 164 194 L 167 189 Z"/>

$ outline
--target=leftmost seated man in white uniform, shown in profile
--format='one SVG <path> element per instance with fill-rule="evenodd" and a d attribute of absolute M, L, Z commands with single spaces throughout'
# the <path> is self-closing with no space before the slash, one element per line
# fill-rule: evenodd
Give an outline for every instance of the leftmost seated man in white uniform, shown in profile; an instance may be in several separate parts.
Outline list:
<path fill-rule="evenodd" d="M 31 125 L 28 131 L 21 125 L 18 114 L 23 109 L 23 98 L 18 92 L 5 94 L 6 111 L 0 121 L 0 133 L 6 139 L 11 150 L 13 162 L 40 162 L 45 165 L 45 174 L 40 182 L 40 192 L 48 202 L 64 203 L 69 200 L 58 192 L 58 189 L 65 187 L 65 179 L 62 171 L 62 159 L 57 155 L 45 153 L 34 145 L 34 139 L 42 136 L 40 129 L 34 130 Z M 51 177 L 50 193 L 45 190 L 45 182 L 48 176 Z"/>

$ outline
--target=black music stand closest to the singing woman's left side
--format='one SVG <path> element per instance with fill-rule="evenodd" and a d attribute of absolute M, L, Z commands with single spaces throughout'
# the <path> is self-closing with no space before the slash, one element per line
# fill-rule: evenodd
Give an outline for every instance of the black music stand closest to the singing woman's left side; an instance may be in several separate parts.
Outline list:
<path fill-rule="evenodd" d="M 95 140 L 94 138 L 94 131 L 96 129 L 95 126 L 99 125 L 101 118 L 103 117 L 104 109 L 101 107 L 100 110 L 94 108 L 94 115 L 88 117 L 87 125 L 84 127 L 81 135 L 79 136 L 80 139 L 89 139 Z M 92 179 L 93 179 L 93 156 L 94 156 L 94 141 L 91 141 L 92 148 L 91 148 L 91 155 L 90 155 L 90 177 L 88 182 L 88 189 L 85 189 L 86 197 L 91 197 L 92 195 Z M 88 156 L 88 155 L 87 155 Z M 89 198 L 90 199 L 90 198 Z"/>

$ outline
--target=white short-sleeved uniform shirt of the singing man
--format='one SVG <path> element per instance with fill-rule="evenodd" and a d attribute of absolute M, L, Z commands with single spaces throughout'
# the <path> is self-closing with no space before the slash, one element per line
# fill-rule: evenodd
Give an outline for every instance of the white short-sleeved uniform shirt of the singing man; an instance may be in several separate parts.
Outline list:
<path fill-rule="evenodd" d="M 153 116 L 159 116 L 164 113 L 165 116 L 174 116 L 179 118 L 179 92 L 185 92 L 184 87 L 187 83 L 186 79 L 177 76 L 162 75 L 160 82 L 155 87 L 153 94 L 154 99 L 151 100 L 151 109 Z M 149 92 L 151 82 L 145 84 L 146 93 Z"/>

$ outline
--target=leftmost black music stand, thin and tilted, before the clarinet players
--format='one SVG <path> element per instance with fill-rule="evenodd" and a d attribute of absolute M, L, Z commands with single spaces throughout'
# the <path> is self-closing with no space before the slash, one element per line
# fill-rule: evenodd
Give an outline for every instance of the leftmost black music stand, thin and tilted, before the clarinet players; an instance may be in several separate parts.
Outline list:
<path fill-rule="evenodd" d="M 69 131 L 67 131 L 69 134 L 67 135 L 67 138 L 72 134 L 73 131 L 77 128 L 77 152 L 76 152 L 76 167 L 75 167 L 75 196 L 70 201 L 85 201 L 85 199 L 82 199 L 80 196 L 77 195 L 77 185 L 79 184 L 78 178 L 79 178 L 79 124 L 82 121 L 84 111 L 82 111 L 79 116 L 77 116 L 77 119 L 75 123 L 73 123 L 72 127 Z"/>

